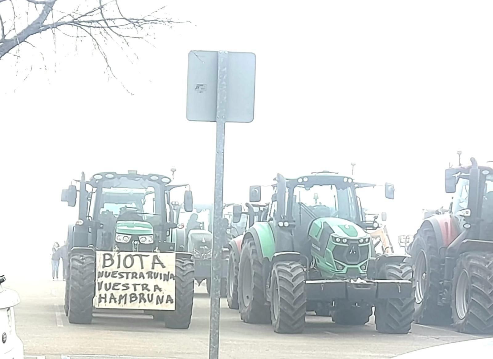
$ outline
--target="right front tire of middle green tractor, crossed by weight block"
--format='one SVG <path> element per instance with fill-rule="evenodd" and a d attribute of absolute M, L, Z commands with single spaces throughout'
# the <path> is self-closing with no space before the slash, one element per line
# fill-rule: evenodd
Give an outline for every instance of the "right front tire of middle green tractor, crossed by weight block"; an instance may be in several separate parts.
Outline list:
<path fill-rule="evenodd" d="M 386 263 L 380 268 L 378 278 L 412 280 L 413 267 L 408 263 Z M 414 315 L 414 298 L 390 298 L 375 305 L 375 326 L 380 333 L 407 334 Z"/>

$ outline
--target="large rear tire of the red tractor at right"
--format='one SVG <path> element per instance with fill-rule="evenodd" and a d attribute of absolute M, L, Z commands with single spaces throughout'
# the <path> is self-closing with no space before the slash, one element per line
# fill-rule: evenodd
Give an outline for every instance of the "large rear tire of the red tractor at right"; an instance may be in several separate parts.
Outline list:
<path fill-rule="evenodd" d="M 414 269 L 414 321 L 428 325 L 450 324 L 452 321 L 450 307 L 438 305 L 442 276 L 435 232 L 431 225 L 424 224 L 418 230 L 410 253 Z"/>

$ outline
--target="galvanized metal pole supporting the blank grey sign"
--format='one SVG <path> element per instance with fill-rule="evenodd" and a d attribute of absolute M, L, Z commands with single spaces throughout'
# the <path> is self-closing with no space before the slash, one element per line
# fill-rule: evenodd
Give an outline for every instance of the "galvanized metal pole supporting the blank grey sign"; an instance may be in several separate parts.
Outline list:
<path fill-rule="evenodd" d="M 209 327 L 209 359 L 219 358 L 219 309 L 221 290 L 221 251 L 225 228 L 222 223 L 222 190 L 224 169 L 224 129 L 226 125 L 226 76 L 228 52 L 217 55 L 216 156 L 214 181 L 214 226 L 211 265 L 211 321 Z"/>

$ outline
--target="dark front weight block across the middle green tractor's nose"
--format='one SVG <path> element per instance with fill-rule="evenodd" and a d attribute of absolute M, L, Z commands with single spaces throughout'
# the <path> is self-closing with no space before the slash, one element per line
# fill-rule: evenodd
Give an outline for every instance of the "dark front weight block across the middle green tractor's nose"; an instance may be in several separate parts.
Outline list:
<path fill-rule="evenodd" d="M 378 299 L 413 296 L 412 283 L 406 280 L 307 280 L 305 288 L 308 300 L 323 302 L 335 299 L 374 302 Z"/>

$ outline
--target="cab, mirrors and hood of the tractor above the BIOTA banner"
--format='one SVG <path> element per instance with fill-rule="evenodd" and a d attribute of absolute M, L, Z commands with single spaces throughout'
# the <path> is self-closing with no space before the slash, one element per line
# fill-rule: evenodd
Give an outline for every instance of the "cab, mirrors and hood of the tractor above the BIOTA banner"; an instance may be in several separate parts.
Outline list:
<path fill-rule="evenodd" d="M 79 216 L 69 231 L 69 246 L 93 246 L 99 251 L 163 252 L 174 251 L 176 221 L 171 191 L 187 185 L 170 185 L 171 178 L 136 171 L 127 174 L 101 172 L 79 189 L 71 185 L 62 192 L 62 201 L 75 206 L 79 193 Z M 186 210 L 192 206 L 190 191 L 185 191 Z"/>

